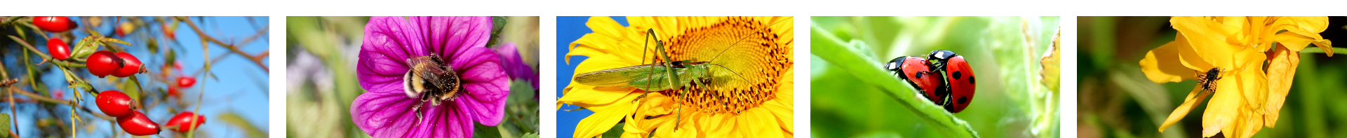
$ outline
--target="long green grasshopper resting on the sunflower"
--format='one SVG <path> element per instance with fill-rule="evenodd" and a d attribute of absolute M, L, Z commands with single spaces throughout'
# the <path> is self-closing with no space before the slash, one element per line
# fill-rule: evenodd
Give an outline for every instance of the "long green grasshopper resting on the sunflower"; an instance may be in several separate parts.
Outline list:
<path fill-rule="evenodd" d="M 787 20 L 789 20 L 789 17 Z M 780 21 L 777 21 L 777 23 L 780 23 Z M 776 23 L 773 23 L 773 24 L 776 24 Z M 740 40 L 731 43 L 729 46 L 729 48 L 725 48 L 725 50 L 727 51 L 727 50 L 733 48 L 735 44 L 738 44 L 738 42 L 746 39 L 748 36 L 750 36 L 750 35 L 746 35 L 746 36 L 741 38 Z M 657 38 L 655 35 L 655 29 L 653 28 L 651 28 L 651 29 L 647 31 L 645 44 L 643 44 L 643 46 L 649 46 L 649 38 Z M 663 91 L 663 90 L 674 90 L 674 88 L 684 88 L 684 90 L 690 88 L 690 87 L 683 87 L 683 84 L 688 84 L 690 82 L 694 83 L 694 84 L 696 84 L 696 86 L 704 86 L 704 84 L 702 84 L 702 82 L 699 79 L 710 79 L 711 78 L 710 76 L 710 67 L 709 67 L 709 64 L 710 66 L 719 66 L 719 67 L 725 68 L 726 71 L 730 71 L 731 74 L 737 75 L 740 79 L 744 79 L 742 75 L 740 75 L 738 72 L 734 72 L 729 67 L 710 63 L 710 62 L 714 62 L 715 58 L 718 58 L 721 54 L 725 54 L 725 51 L 721 51 L 719 54 L 717 54 L 715 58 L 713 58 L 709 62 L 691 62 L 691 60 L 671 60 L 671 58 L 668 56 L 668 52 L 664 51 L 664 42 L 660 42 L 660 40 L 656 39 L 655 40 L 655 47 L 656 47 L 655 48 L 656 52 L 659 52 L 656 55 L 659 55 L 659 58 L 663 59 L 661 63 L 649 63 L 649 64 L 640 64 L 640 66 L 630 66 L 630 67 L 621 67 L 621 68 L 601 70 L 601 71 L 594 71 L 594 72 L 585 72 L 585 74 L 575 75 L 574 79 L 575 79 L 577 83 L 589 84 L 589 86 L 599 86 L 599 87 L 622 86 L 622 87 L 636 87 L 638 90 L 645 90 L 645 92 L 641 94 L 641 96 L 637 96 L 637 99 L 634 99 L 633 102 L 644 99 L 649 94 L 649 91 Z M 645 63 L 644 62 L 645 60 L 644 59 L 645 58 L 644 52 L 645 51 L 643 51 L 643 54 L 641 54 L 641 56 L 643 56 L 643 59 L 641 59 L 643 62 L 641 63 Z M 746 80 L 746 79 L 744 79 L 744 80 Z M 686 92 L 679 92 L 675 96 L 675 99 L 679 98 L 679 96 L 686 96 L 684 94 Z M 680 110 L 679 110 L 678 114 L 682 115 L 682 105 L 679 105 L 679 109 Z M 647 119 L 659 118 L 659 117 L 663 117 L 663 115 L 652 115 L 652 117 L 647 117 Z M 678 123 L 680 123 L 680 122 L 682 122 L 682 118 L 679 118 L 678 122 L 675 122 L 675 126 Z M 676 130 L 676 127 L 675 127 L 675 130 Z"/>

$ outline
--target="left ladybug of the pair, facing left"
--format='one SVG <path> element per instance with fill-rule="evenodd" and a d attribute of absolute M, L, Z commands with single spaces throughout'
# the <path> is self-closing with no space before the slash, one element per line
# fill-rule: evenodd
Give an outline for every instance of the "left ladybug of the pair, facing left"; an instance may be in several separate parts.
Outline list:
<path fill-rule="evenodd" d="M 900 56 L 885 63 L 884 68 L 892 71 L 894 76 L 907 80 L 908 84 L 916 86 L 923 92 L 919 95 L 931 99 L 936 105 L 944 103 L 944 96 L 950 94 L 948 87 L 944 84 L 944 78 L 931 71 L 931 64 L 927 59 Z"/>

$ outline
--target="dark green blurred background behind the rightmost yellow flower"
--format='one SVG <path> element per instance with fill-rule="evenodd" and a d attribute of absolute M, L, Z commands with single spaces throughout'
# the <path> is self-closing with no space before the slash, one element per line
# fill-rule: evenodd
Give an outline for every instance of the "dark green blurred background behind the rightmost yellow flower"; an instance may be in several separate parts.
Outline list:
<path fill-rule="evenodd" d="M 1328 40 L 1347 40 L 1347 17 L 1331 16 Z M 1175 39 L 1168 16 L 1082 16 L 1076 17 L 1076 137 L 1202 137 L 1206 103 L 1183 121 L 1158 133 L 1161 122 L 1183 103 L 1196 80 L 1154 83 L 1141 72 L 1138 62 L 1146 51 Z M 1309 46 L 1307 48 L 1313 48 Z M 1343 47 L 1343 46 L 1335 46 Z M 1300 67 L 1277 127 L 1263 127 L 1254 138 L 1340 138 L 1347 127 L 1344 52 L 1334 58 L 1301 54 Z M 1339 99 L 1339 100 L 1335 100 Z"/>

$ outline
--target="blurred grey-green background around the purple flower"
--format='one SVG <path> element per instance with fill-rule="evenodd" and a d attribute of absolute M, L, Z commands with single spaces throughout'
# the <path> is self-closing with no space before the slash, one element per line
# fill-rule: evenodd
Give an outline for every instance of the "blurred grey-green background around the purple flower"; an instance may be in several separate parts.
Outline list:
<path fill-rule="evenodd" d="M 500 43 L 515 43 L 520 58 L 537 74 L 539 17 L 505 19 Z M 287 138 L 369 138 L 350 121 L 350 103 L 365 92 L 356 76 L 356 58 L 368 16 L 286 17 Z M 512 79 L 505 119 L 497 126 L 473 123 L 473 137 L 520 138 L 532 133 L 536 138 L 540 129 L 535 95 L 529 82 Z"/>

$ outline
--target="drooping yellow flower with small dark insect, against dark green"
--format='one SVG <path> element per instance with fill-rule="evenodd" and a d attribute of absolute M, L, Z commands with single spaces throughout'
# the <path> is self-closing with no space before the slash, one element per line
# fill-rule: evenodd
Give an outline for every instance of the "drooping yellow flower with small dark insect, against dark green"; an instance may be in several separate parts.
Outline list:
<path fill-rule="evenodd" d="M 1199 75 L 1215 68 L 1219 79 L 1200 80 L 1216 87 L 1193 87 L 1161 123 L 1161 133 L 1212 95 L 1202 117 L 1202 135 L 1224 131 L 1227 138 L 1253 137 L 1276 125 L 1300 62 L 1297 52 L 1313 43 L 1332 56 L 1331 42 L 1319 35 L 1328 27 L 1323 16 L 1176 16 L 1169 21 L 1179 33 L 1140 62 L 1146 78 L 1156 83 L 1208 79 Z"/>

